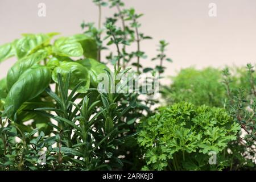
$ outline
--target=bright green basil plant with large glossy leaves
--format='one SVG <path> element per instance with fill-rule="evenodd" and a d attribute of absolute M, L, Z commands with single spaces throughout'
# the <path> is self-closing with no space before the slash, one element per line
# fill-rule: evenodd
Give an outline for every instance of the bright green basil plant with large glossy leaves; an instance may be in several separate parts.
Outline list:
<path fill-rule="evenodd" d="M 52 40 L 56 35 L 59 34 L 23 34 L 22 38 L 0 46 L 0 63 L 16 57 L 7 76 L 0 80 L 2 117 L 25 127 L 23 122 L 35 118 L 29 110 L 52 105 L 45 90 L 58 83 L 59 73 L 64 79 L 70 73 L 69 89 L 81 82 L 78 93 L 97 87 L 97 74 L 108 68 L 96 60 L 94 38 L 77 34 Z"/>

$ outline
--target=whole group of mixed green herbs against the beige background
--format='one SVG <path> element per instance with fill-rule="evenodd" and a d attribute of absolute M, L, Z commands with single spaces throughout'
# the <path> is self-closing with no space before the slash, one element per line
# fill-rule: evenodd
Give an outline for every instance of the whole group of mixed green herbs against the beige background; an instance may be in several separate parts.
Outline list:
<path fill-rule="evenodd" d="M 148 58 L 142 14 L 120 0 L 93 3 L 98 22 L 80 34 L 0 46 L 0 63 L 16 58 L 0 80 L 0 170 L 255 170 L 254 65 L 186 68 L 164 85 L 168 43 Z M 108 8 L 116 13 L 103 22 Z M 160 99 L 112 92 L 129 73 L 158 73 Z"/>

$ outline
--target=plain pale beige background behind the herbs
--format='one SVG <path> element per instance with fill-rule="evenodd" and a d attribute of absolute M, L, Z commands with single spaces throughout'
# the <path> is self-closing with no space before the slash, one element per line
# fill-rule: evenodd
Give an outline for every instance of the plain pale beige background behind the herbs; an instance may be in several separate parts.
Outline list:
<path fill-rule="evenodd" d="M 38 3 L 46 3 L 46 17 L 38 16 Z M 140 30 L 153 40 L 142 43 L 150 65 L 159 39 L 170 42 L 166 75 L 196 65 L 198 68 L 244 65 L 256 62 L 255 0 L 124 0 L 143 13 Z M 217 17 L 208 15 L 209 3 L 217 4 Z M 110 16 L 115 9 L 104 8 Z M 0 0 L 0 44 L 11 42 L 25 32 L 81 32 L 80 24 L 97 21 L 97 7 L 91 0 Z M 15 59 L 0 65 L 4 77 Z"/>

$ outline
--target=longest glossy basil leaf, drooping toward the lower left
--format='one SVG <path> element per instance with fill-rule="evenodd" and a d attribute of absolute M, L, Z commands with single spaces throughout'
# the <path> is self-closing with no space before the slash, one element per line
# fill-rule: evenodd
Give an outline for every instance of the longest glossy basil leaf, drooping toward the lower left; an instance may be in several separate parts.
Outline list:
<path fill-rule="evenodd" d="M 39 96 L 49 86 L 51 71 L 43 65 L 33 65 L 27 69 L 11 87 L 5 100 L 5 112 L 13 118 L 19 107 L 26 101 Z"/>

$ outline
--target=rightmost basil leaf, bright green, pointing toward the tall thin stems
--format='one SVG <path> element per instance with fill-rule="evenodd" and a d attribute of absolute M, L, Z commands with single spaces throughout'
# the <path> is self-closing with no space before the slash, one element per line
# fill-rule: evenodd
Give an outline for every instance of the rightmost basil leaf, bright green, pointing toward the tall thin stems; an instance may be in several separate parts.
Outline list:
<path fill-rule="evenodd" d="M 100 75 L 101 73 L 106 73 L 105 69 L 109 70 L 109 68 L 106 67 L 105 64 L 102 64 L 94 59 L 83 59 L 78 60 L 77 62 L 88 69 L 90 74 L 90 84 L 96 88 L 100 83 L 100 80 L 98 80 L 98 75 Z"/>

